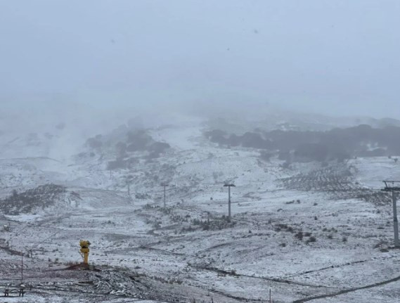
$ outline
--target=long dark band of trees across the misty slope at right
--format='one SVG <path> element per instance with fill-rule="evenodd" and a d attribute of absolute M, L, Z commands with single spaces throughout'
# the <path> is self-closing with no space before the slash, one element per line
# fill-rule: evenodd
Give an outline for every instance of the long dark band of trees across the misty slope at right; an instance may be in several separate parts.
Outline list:
<path fill-rule="evenodd" d="M 375 129 L 362 124 L 330 131 L 254 131 L 243 135 L 227 134 L 221 130 L 207 131 L 205 136 L 221 146 L 242 146 L 262 150 L 262 157 L 271 157 L 268 151 L 278 151 L 281 160 L 328 161 L 350 157 L 400 155 L 400 127 Z"/>

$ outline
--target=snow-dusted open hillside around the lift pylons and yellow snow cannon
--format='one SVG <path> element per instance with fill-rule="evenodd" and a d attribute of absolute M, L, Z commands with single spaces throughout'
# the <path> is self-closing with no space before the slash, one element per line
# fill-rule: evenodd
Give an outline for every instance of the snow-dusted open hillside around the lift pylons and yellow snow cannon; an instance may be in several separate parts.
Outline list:
<path fill-rule="evenodd" d="M 377 157 L 283 169 L 257 150 L 208 143 L 193 125 L 151 134 L 172 151 L 131 170 L 110 172 L 98 155 L 0 160 L 1 197 L 44 183 L 75 197 L 0 215 L 1 226 L 11 223 L 0 232 L 0 290 L 18 285 L 25 253 L 27 293 L 7 302 L 268 302 L 270 290 L 273 302 L 399 302 L 392 205 L 358 194 L 400 179 L 399 163 Z M 351 178 L 342 176 L 347 168 Z M 236 184 L 230 222 L 226 180 Z M 332 181 L 330 191 L 321 180 Z M 81 239 L 92 243 L 98 271 L 66 269 L 82 261 Z"/>

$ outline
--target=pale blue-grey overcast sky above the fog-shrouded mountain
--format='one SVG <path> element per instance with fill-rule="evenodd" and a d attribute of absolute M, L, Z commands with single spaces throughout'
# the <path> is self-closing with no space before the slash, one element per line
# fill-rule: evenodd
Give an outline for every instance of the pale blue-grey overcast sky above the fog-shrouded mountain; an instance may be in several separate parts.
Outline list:
<path fill-rule="evenodd" d="M 0 101 L 400 118 L 399 16 L 399 0 L 0 0 Z"/>

